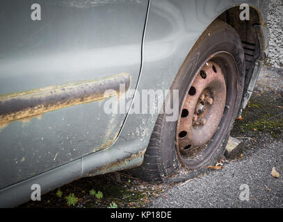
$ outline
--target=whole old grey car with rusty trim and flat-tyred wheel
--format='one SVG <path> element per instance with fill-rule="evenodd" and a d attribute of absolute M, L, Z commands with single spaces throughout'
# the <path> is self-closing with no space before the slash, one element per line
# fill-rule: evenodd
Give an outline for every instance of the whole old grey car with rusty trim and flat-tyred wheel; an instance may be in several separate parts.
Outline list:
<path fill-rule="evenodd" d="M 268 52 L 258 0 L 0 2 L 0 206 L 223 155 Z"/>

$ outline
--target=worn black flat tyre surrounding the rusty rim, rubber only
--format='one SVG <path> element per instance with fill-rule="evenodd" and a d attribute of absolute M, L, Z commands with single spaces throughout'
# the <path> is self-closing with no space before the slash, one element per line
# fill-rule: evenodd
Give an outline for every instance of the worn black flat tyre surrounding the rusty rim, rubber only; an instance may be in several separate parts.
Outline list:
<path fill-rule="evenodd" d="M 229 53 L 231 58 L 225 60 L 225 56 L 221 57 L 220 52 Z M 216 56 L 211 58 L 211 55 Z M 214 142 L 213 154 L 209 160 L 204 160 L 201 167 L 188 169 L 186 179 L 207 171 L 207 166 L 216 164 L 223 155 L 229 132 L 232 130 L 234 119 L 236 119 L 240 108 L 245 78 L 244 52 L 238 33 L 229 24 L 220 20 L 213 22 L 188 54 L 171 87 L 171 89 L 179 89 L 179 108 L 182 107 L 181 98 L 188 94 L 195 74 L 208 59 L 223 65 L 223 69 L 226 71 L 227 95 L 231 104 L 229 103 L 229 110 L 225 111 L 227 114 L 223 114 L 223 119 L 224 117 L 226 119 L 223 120 L 222 125 L 219 125 L 222 133 L 218 135 L 217 142 Z M 235 68 L 227 67 L 226 63 L 229 61 L 233 63 L 229 67 Z M 172 103 L 172 101 L 167 100 L 165 103 Z M 168 176 L 175 173 L 181 166 L 175 147 L 177 121 L 165 121 L 165 117 L 165 114 L 159 114 L 145 153 L 144 162 L 133 171 L 134 176 L 149 182 L 165 182 Z"/>

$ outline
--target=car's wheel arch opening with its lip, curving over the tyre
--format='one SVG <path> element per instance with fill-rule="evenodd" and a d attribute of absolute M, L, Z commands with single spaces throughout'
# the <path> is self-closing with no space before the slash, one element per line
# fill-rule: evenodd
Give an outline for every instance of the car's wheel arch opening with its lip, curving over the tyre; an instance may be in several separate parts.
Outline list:
<path fill-rule="evenodd" d="M 266 13 L 264 11 L 262 3 L 259 3 L 259 7 L 250 6 L 250 19 L 242 21 L 239 17 L 241 14 L 240 5 L 231 6 L 226 8 L 223 12 L 213 19 L 213 21 L 207 26 L 207 28 L 200 33 L 199 37 L 195 40 L 189 53 L 197 45 L 197 42 L 204 37 L 204 33 L 213 26 L 214 23 L 221 20 L 232 26 L 236 33 L 238 33 L 243 49 L 245 52 L 245 85 L 243 89 L 243 98 L 239 115 L 250 101 L 252 91 L 257 82 L 261 65 L 266 59 L 268 53 L 268 38 L 269 31 L 267 27 Z M 268 3 L 264 5 L 267 7 Z M 261 10 L 259 10 L 261 8 Z M 181 68 L 180 68 L 181 69 Z M 178 78 L 178 74 L 175 76 L 175 80 Z"/>

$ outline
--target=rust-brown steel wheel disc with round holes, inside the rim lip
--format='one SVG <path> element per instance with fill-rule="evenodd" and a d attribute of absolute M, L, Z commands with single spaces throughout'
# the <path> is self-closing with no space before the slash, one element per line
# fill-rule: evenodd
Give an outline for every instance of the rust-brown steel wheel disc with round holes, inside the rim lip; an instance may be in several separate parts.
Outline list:
<path fill-rule="evenodd" d="M 206 62 L 193 80 L 177 123 L 177 153 L 181 159 L 202 158 L 203 151 L 218 130 L 226 96 L 223 71 L 216 62 Z"/>

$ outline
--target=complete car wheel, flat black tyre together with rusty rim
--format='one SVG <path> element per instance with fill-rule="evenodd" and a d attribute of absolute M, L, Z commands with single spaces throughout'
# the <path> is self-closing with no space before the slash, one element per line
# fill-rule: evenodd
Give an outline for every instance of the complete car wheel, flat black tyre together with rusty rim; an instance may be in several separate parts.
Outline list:
<path fill-rule="evenodd" d="M 179 119 L 170 122 L 159 114 L 135 176 L 164 182 L 181 165 L 188 179 L 216 164 L 240 108 L 244 77 L 240 37 L 216 20 L 197 40 L 171 87 L 179 90 Z"/>

